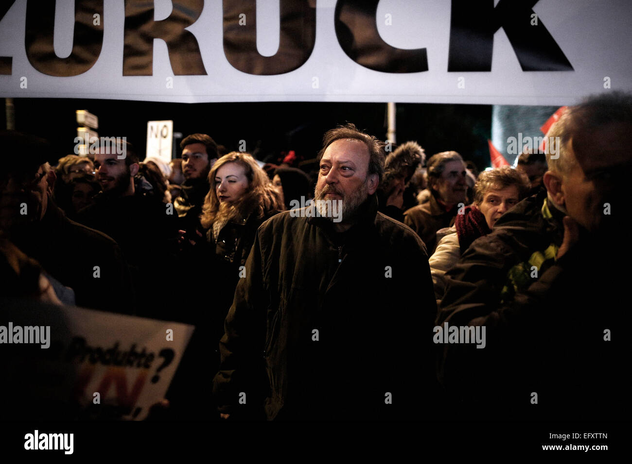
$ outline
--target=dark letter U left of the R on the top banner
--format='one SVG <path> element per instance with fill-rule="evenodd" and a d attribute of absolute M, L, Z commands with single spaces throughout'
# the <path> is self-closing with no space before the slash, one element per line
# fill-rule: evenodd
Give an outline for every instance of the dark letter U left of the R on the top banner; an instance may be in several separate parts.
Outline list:
<path fill-rule="evenodd" d="M 94 66 L 103 45 L 103 25 L 93 24 L 93 15 L 103 17 L 103 0 L 75 0 L 73 49 L 66 58 L 53 46 L 55 1 L 28 0 L 25 31 L 27 58 L 33 68 L 49 76 L 77 76 Z"/>

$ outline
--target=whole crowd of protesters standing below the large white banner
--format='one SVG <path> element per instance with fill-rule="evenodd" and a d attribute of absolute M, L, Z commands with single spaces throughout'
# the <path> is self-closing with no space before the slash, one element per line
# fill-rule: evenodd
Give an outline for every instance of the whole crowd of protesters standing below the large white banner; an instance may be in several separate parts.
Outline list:
<path fill-rule="evenodd" d="M 126 141 L 55 162 L 3 131 L 2 296 L 195 325 L 171 419 L 617 416 L 631 129 L 631 96 L 588 98 L 545 152 L 480 174 L 353 124 L 307 172 L 208 134 L 166 164 Z M 444 324 L 485 347 L 437 343 Z"/>

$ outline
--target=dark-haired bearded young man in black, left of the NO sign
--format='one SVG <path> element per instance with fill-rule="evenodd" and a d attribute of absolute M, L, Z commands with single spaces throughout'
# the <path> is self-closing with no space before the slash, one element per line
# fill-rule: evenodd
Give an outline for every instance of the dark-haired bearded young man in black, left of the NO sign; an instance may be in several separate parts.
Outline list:
<path fill-rule="evenodd" d="M 121 246 L 137 294 L 137 314 L 173 318 L 166 312 L 171 301 L 164 294 L 164 283 L 167 269 L 174 265 L 175 215 L 159 199 L 137 194 L 138 155 L 127 141 L 116 143 L 124 146 L 112 150 L 103 145 L 94 155 L 101 192 L 94 205 L 80 211 L 78 221 L 104 232 Z M 119 159 L 121 152 L 123 158 Z"/>

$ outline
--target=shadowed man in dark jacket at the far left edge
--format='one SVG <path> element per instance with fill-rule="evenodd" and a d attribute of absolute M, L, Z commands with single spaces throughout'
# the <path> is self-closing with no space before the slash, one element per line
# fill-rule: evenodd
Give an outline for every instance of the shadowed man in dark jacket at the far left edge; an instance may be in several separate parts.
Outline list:
<path fill-rule="evenodd" d="M 68 219 L 52 199 L 56 174 L 48 163 L 49 143 L 1 131 L 0 144 L 11 153 L 0 164 L 2 234 L 73 289 L 77 306 L 131 312 L 133 293 L 116 242 Z"/>

